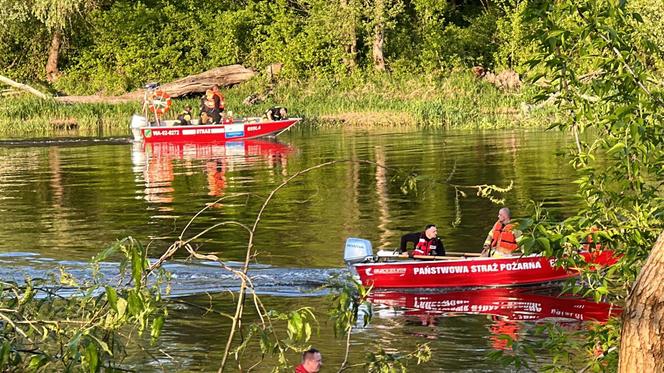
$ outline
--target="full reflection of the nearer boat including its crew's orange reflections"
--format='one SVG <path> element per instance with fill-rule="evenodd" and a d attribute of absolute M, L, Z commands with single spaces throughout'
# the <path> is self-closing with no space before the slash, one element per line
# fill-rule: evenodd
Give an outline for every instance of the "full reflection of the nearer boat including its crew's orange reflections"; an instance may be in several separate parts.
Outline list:
<path fill-rule="evenodd" d="M 555 322 L 578 328 L 585 321 L 606 322 L 622 309 L 611 303 L 593 302 L 570 295 L 557 295 L 559 288 L 492 288 L 438 293 L 375 292 L 371 302 L 384 317 L 405 317 L 405 325 L 436 328 L 445 317 L 487 315 L 488 340 L 494 350 L 509 349 L 523 337 L 529 322 Z M 418 337 L 436 339 L 436 333 Z"/>

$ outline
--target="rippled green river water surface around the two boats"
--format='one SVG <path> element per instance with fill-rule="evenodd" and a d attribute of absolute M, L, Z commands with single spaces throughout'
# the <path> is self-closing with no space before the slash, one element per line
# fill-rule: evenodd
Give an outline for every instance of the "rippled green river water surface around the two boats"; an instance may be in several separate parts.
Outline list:
<path fill-rule="evenodd" d="M 86 260 L 126 236 L 150 244 L 150 256 L 156 258 L 208 205 L 185 237 L 226 220 L 251 225 L 275 186 L 321 162 L 371 160 L 415 172 L 422 176 L 417 193 L 404 194 L 394 173 L 373 165 L 343 163 L 317 169 L 279 191 L 260 222 L 253 275 L 264 303 L 282 311 L 314 307 L 320 331 L 312 343 L 323 351 L 323 371 L 336 371 L 343 360 L 343 341 L 334 338 L 325 315 L 328 299 L 317 288 L 330 276 L 345 273 L 342 256 L 347 237 L 370 239 L 375 249 L 393 248 L 401 234 L 433 222 L 448 250 L 479 252 L 498 206 L 465 190 L 457 216 L 456 193 L 449 184 L 513 182 L 504 198 L 515 216 L 526 216 L 530 201 L 539 201 L 553 217 L 563 217 L 576 203 L 573 171 L 557 155 L 569 142 L 559 133 L 541 131 L 369 132 L 303 126 L 283 134 L 279 142 L 225 146 L 144 147 L 104 141 L 0 146 L 0 276 L 20 280 L 59 266 L 81 271 Z M 203 236 L 197 247 L 233 263 L 243 259 L 246 239 L 242 230 L 222 227 Z M 216 371 L 218 367 L 229 323 L 204 316 L 195 305 L 212 304 L 231 312 L 233 301 L 227 290 L 238 284 L 210 263 L 185 259 L 181 253 L 168 269 L 174 274 L 174 294 L 186 302 L 171 307 L 160 345 L 150 348 L 154 358 L 136 351 L 127 358 L 139 371 Z M 108 263 L 108 268 L 114 264 Z M 425 302 L 413 294 L 377 297 L 373 322 L 354 334 L 351 362 L 362 361 L 374 343 L 388 351 L 406 351 L 429 342 L 434 357 L 426 370 L 500 370 L 486 357 L 505 348 L 498 335 L 533 340 L 541 338 L 534 336 L 533 329 L 542 318 L 563 317 L 570 330 L 585 326 L 565 316 L 587 318 L 548 309 L 560 305 L 551 292 L 437 297 Z M 505 302 L 510 306 L 491 315 L 487 304 Z M 463 311 L 450 308 L 459 304 L 484 308 L 473 315 L 450 313 Z M 251 353 L 256 354 L 256 348 Z M 292 359 L 297 360 L 295 355 Z M 539 366 L 547 360 L 531 363 Z"/>

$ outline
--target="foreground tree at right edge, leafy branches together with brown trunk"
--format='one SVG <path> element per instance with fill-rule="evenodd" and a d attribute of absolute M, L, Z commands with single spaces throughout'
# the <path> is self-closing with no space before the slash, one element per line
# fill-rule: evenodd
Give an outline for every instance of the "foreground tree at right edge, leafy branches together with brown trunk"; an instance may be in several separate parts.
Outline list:
<path fill-rule="evenodd" d="M 579 174 L 583 205 L 562 224 L 536 225 L 524 249 L 565 256 L 574 264 L 570 258 L 592 235 L 622 254 L 612 271 L 587 276 L 589 293 L 627 295 L 621 369 L 661 370 L 661 236 L 653 244 L 664 227 L 664 84 L 650 62 L 662 50 L 624 1 L 542 1 L 531 12 L 541 27 L 542 47 L 532 61 L 542 73 L 532 79 L 545 78 L 540 97 L 555 100 L 565 113 L 553 127 L 574 139 L 570 162 Z M 658 308 L 643 312 L 647 306 Z M 639 336 L 654 339 L 644 348 Z M 604 346 L 598 356 L 610 356 L 616 347 Z"/>

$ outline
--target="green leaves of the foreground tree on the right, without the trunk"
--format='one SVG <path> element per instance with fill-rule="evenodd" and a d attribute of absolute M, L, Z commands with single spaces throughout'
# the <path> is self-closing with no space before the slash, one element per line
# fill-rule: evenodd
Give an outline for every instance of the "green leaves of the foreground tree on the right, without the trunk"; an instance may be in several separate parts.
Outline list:
<path fill-rule="evenodd" d="M 578 250 L 591 237 L 622 257 L 608 271 L 584 272 L 586 287 L 572 289 L 595 299 L 625 297 L 664 228 L 664 84 L 652 63 L 662 50 L 642 16 L 623 1 L 539 2 L 530 11 L 530 20 L 541 25 L 543 48 L 531 61 L 543 75 L 533 79 L 543 78 L 540 97 L 555 99 L 567 114 L 552 128 L 574 138 L 570 163 L 583 204 L 561 223 L 538 209 L 524 224 L 522 248 L 586 268 Z M 595 351 L 589 368 L 615 369 L 619 328 L 613 321 L 585 336 L 583 346 Z M 582 349 L 570 349 L 553 329 L 547 343 L 565 346 L 556 350 L 552 369 L 579 359 L 575 352 Z"/>

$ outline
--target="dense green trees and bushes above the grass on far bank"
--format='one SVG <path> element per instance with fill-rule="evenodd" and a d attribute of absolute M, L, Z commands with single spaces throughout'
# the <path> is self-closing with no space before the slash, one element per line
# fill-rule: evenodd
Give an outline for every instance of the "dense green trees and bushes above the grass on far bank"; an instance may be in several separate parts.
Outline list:
<path fill-rule="evenodd" d="M 527 0 L 0 0 L 0 73 L 63 94 L 117 94 L 234 63 L 286 78 L 527 75 L 540 20 Z M 664 2 L 634 0 L 664 46 Z M 564 26 L 564 25 L 563 25 Z M 660 48 L 662 49 L 662 48 Z M 634 51 L 639 53 L 638 50 Z M 652 56 L 655 69 L 662 56 Z"/>

